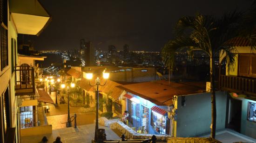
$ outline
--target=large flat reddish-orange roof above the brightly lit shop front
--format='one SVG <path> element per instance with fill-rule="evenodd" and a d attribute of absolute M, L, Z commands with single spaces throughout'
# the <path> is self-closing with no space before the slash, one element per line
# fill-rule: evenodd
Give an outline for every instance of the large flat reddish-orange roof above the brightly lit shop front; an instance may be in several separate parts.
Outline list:
<path fill-rule="evenodd" d="M 205 83 L 171 82 L 170 85 L 168 85 L 168 81 L 158 80 L 138 84 L 119 85 L 117 87 L 159 106 L 167 106 L 173 104 L 172 98 L 175 95 L 202 93 L 202 90 L 205 90 Z"/>

